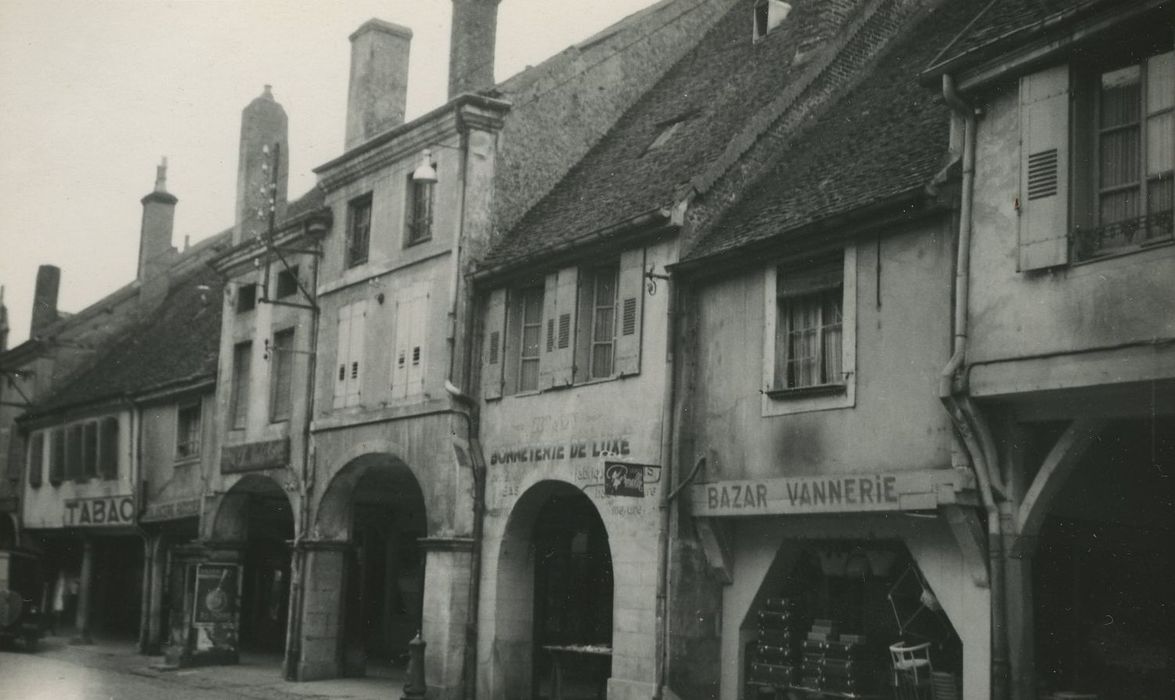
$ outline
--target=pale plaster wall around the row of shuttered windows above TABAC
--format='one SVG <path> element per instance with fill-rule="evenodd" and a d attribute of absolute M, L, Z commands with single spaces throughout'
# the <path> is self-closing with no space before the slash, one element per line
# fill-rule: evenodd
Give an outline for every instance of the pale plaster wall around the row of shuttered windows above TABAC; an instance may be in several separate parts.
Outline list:
<path fill-rule="evenodd" d="M 49 483 L 49 449 L 43 450 L 42 480 L 39 487 L 25 486 L 21 502 L 22 521 L 31 529 L 61 529 L 66 526 L 67 500 L 83 498 L 135 497 L 135 473 L 133 469 L 133 437 L 129 411 L 119 411 L 119 476 L 116 479 L 92 478 L 85 482 L 62 480 L 54 486 Z M 106 416 L 95 416 L 102 418 Z M 70 425 L 65 423 L 63 426 Z M 47 430 L 33 432 L 33 436 L 48 435 Z"/>

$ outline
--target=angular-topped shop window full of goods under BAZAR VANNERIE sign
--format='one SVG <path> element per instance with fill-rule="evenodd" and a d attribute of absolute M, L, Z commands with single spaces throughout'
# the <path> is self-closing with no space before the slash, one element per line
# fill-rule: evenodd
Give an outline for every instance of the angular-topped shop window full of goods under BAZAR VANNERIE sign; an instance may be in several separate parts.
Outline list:
<path fill-rule="evenodd" d="M 962 696 L 962 644 L 898 540 L 785 544 L 740 641 L 746 698 Z"/>

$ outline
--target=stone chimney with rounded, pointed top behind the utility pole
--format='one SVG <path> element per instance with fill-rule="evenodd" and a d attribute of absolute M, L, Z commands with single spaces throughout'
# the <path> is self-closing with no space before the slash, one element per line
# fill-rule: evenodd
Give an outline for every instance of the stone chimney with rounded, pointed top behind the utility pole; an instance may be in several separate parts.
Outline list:
<path fill-rule="evenodd" d="M 276 163 L 274 153 L 277 153 Z M 277 181 L 274 182 L 274 168 Z M 269 208 L 275 221 L 286 216 L 289 181 L 289 119 L 274 100 L 270 86 L 241 112 L 241 150 L 236 167 L 236 221 L 233 242 L 269 229 Z M 275 184 L 276 187 L 270 187 Z"/>

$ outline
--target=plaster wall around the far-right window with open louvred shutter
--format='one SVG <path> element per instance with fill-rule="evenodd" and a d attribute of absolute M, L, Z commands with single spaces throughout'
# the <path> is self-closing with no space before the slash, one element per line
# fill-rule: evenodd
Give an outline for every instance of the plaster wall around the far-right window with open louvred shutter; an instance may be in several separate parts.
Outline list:
<path fill-rule="evenodd" d="M 1016 85 L 979 105 L 968 361 L 1112 349 L 1175 337 L 1175 245 L 1021 272 L 1020 110 Z M 1081 163 L 1077 163 L 1080 167 Z M 1070 188 L 1070 191 L 1074 188 Z M 1115 375 L 1116 358 L 1076 384 Z"/>

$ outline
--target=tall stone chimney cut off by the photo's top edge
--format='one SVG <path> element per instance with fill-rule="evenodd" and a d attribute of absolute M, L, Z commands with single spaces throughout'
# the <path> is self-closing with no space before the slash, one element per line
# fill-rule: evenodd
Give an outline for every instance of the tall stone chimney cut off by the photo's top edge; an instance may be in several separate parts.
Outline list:
<path fill-rule="evenodd" d="M 494 85 L 494 38 L 499 0 L 452 0 L 449 96 Z"/>

